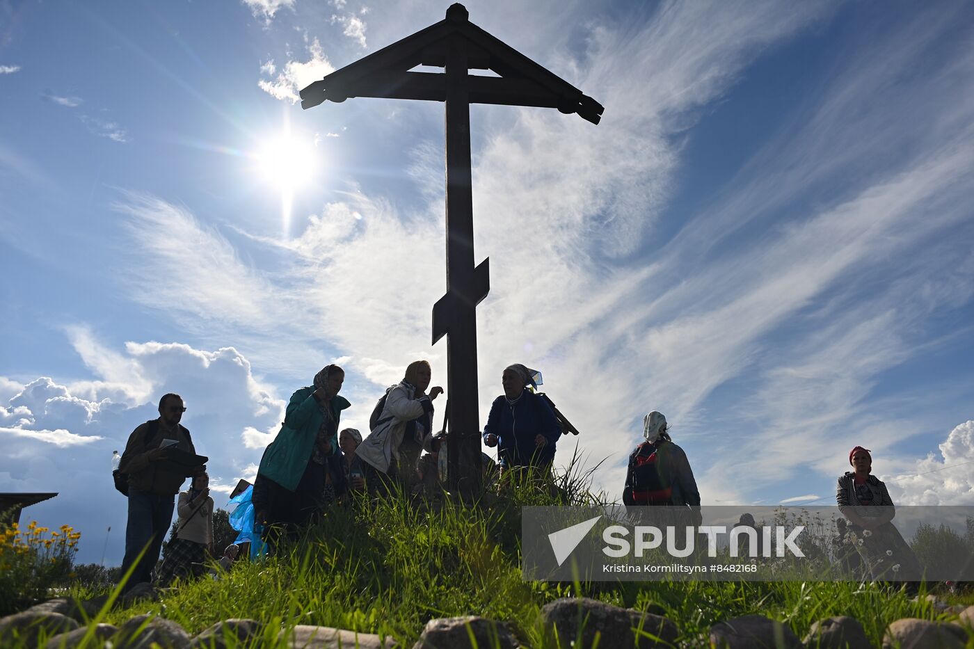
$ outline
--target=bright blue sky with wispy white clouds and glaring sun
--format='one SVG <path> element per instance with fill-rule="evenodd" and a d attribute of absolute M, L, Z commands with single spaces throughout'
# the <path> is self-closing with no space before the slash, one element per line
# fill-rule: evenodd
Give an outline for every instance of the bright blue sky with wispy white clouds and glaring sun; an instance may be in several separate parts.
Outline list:
<path fill-rule="evenodd" d="M 0 2 L 0 491 L 82 560 L 165 392 L 227 491 L 325 363 L 445 386 L 442 105 L 294 98 L 446 6 Z M 481 420 L 525 363 L 614 497 L 658 409 L 705 503 L 974 503 L 969 3 L 467 6 L 606 107 L 471 109 Z"/>

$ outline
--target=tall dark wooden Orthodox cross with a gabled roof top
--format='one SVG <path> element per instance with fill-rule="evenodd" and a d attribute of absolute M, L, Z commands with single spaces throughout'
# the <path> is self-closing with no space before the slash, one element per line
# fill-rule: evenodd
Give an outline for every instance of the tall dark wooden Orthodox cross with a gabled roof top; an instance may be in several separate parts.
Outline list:
<path fill-rule="evenodd" d="M 410 71 L 418 65 L 445 69 Z M 490 69 L 500 77 L 469 75 L 469 69 Z M 449 485 L 475 493 L 481 480 L 476 305 L 487 296 L 490 279 L 487 259 L 473 265 L 469 104 L 557 108 L 592 124 L 599 123 L 603 108 L 469 22 L 461 4 L 447 9 L 446 19 L 311 84 L 301 91 L 301 107 L 352 96 L 446 103 L 446 294 L 432 308 L 432 342 L 447 335 Z"/>

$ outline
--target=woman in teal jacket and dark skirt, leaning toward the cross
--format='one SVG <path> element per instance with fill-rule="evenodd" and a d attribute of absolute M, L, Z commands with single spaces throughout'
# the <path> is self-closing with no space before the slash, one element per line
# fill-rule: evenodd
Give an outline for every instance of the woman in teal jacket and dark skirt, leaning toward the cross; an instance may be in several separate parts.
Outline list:
<path fill-rule="evenodd" d="M 326 365 L 315 375 L 314 386 L 291 396 L 281 431 L 264 451 L 254 482 L 258 522 L 301 525 L 324 509 L 326 491 L 341 480 L 333 460 L 340 457 L 338 422 L 351 405 L 338 396 L 344 380 L 341 367 Z"/>

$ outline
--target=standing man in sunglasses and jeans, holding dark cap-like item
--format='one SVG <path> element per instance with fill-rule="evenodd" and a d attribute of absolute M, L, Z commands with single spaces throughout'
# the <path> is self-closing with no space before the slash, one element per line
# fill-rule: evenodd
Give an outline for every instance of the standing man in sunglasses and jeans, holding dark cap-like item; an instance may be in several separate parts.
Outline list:
<path fill-rule="evenodd" d="M 151 581 L 152 568 L 159 560 L 163 539 L 172 522 L 173 498 L 186 479 L 184 471 L 175 471 L 165 462 L 169 451 L 196 453 L 189 431 L 179 424 L 185 411 L 179 395 L 164 395 L 159 400 L 159 418 L 139 424 L 122 454 L 119 471 L 129 478 L 129 523 L 122 574 L 145 549 L 126 582 L 126 590 Z M 203 471 L 201 466 L 199 472 Z"/>

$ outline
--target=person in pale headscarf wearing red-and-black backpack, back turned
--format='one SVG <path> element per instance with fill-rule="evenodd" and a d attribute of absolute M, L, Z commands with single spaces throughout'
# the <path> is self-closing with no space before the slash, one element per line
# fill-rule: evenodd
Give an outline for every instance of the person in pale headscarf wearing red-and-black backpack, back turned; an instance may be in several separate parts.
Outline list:
<path fill-rule="evenodd" d="M 629 456 L 622 502 L 627 505 L 699 507 L 700 492 L 687 454 L 673 443 L 666 417 L 654 410 L 643 417 L 641 444 Z"/>

